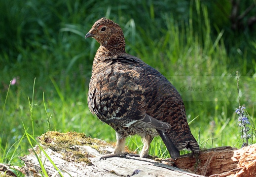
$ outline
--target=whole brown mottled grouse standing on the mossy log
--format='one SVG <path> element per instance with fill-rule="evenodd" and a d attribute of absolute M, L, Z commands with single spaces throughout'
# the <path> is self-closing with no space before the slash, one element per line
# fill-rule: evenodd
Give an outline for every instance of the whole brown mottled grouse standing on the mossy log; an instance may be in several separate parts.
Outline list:
<path fill-rule="evenodd" d="M 100 47 L 92 64 L 88 107 L 116 134 L 113 152 L 101 159 L 126 156 L 125 139 L 135 134 L 142 137 L 139 156 L 143 158 L 148 157 L 149 145 L 156 136 L 161 137 L 171 158 L 180 157 L 183 149 L 198 154 L 180 93 L 159 71 L 125 52 L 121 27 L 103 17 L 85 35 L 89 37 Z"/>

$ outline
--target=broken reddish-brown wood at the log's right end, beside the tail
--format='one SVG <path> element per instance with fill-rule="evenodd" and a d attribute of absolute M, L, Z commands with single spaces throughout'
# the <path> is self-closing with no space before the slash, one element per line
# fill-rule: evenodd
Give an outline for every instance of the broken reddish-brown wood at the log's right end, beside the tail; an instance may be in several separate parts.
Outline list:
<path fill-rule="evenodd" d="M 202 151 L 200 163 L 184 155 L 163 163 L 206 177 L 256 177 L 256 144 L 241 149 L 219 147 Z M 197 164 L 197 165 L 195 165 Z"/>

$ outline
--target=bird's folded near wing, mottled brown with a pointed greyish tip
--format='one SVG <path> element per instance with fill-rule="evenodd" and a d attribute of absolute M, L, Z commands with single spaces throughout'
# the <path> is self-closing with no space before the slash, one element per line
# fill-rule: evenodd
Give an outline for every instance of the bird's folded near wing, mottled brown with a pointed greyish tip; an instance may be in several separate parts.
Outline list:
<path fill-rule="evenodd" d="M 137 84 L 140 73 L 134 70 L 138 58 L 121 58 L 92 77 L 88 105 L 106 123 L 140 128 L 169 129 L 170 124 L 146 114 L 145 89 Z"/>

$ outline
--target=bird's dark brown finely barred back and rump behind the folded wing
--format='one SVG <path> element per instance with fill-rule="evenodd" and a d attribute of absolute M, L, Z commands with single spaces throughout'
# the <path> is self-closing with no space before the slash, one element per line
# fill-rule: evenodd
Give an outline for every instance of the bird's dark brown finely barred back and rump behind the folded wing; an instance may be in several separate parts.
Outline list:
<path fill-rule="evenodd" d="M 127 54 L 128 55 L 128 54 Z M 126 59 L 139 59 L 133 56 L 124 56 Z M 140 73 L 137 84 L 145 89 L 146 115 L 160 122 L 165 122 L 171 127 L 161 131 L 165 144 L 173 144 L 179 150 L 190 148 L 199 151 L 199 146 L 190 132 L 185 108 L 180 93 L 175 87 L 156 69 L 144 62 L 138 62 L 135 71 Z M 158 131 L 159 132 L 159 131 Z M 171 143 L 167 143 L 168 138 Z"/>

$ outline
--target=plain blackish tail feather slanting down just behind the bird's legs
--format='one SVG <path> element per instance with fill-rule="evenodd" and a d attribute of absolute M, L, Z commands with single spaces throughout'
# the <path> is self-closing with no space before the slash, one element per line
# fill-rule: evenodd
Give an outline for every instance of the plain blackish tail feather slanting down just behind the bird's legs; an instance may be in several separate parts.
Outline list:
<path fill-rule="evenodd" d="M 174 146 L 168 135 L 162 130 L 157 130 L 172 158 L 180 157 L 180 151 Z"/>

